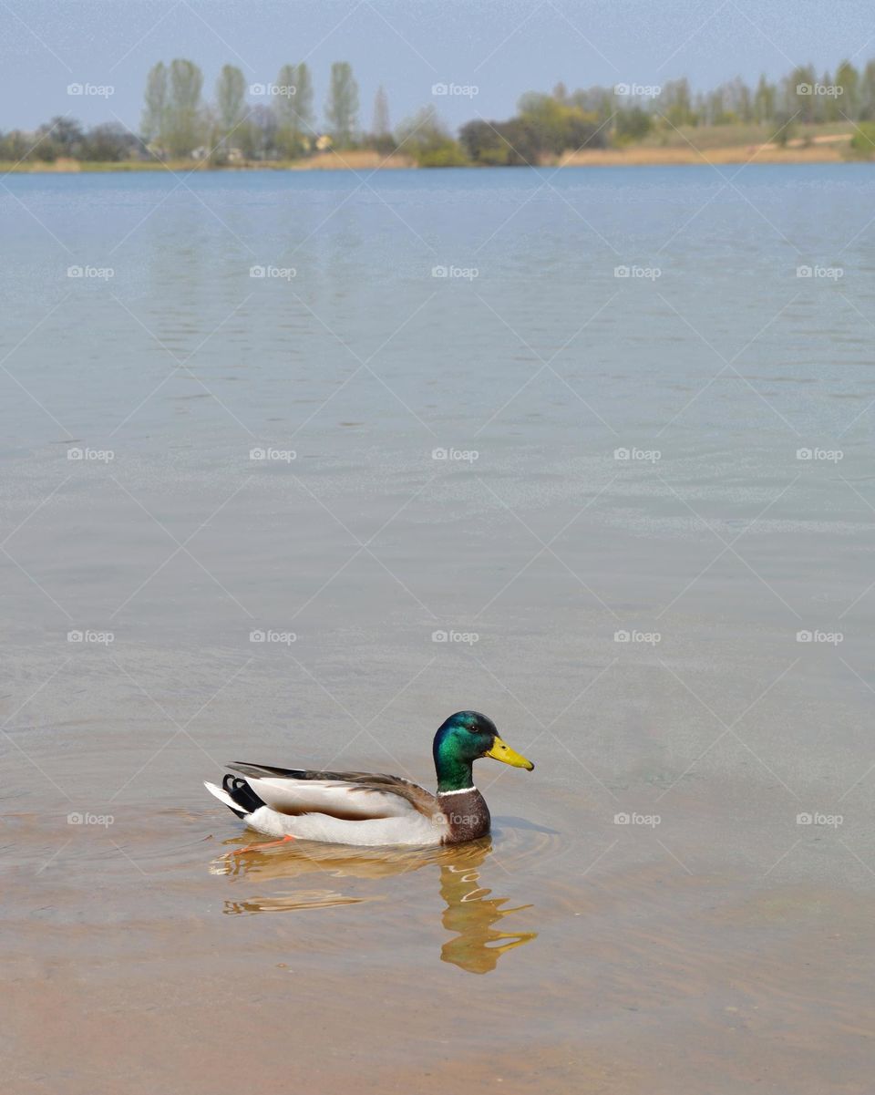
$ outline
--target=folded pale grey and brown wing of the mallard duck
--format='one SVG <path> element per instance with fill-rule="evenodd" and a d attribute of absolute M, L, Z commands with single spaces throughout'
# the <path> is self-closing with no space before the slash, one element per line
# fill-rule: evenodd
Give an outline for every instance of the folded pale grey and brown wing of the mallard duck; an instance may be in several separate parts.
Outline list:
<path fill-rule="evenodd" d="M 375 820 L 421 814 L 433 818 L 438 800 L 418 783 L 373 772 L 319 772 L 234 761 L 232 772 L 278 814 L 327 814 L 343 820 Z"/>

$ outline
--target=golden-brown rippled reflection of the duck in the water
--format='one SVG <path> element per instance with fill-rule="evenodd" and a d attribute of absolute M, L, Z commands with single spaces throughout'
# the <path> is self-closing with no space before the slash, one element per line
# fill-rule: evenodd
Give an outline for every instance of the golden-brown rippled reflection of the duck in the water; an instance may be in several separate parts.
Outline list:
<path fill-rule="evenodd" d="M 332 849 L 302 844 L 286 851 L 252 851 L 245 855 L 224 855 L 210 866 L 214 874 L 245 876 L 267 881 L 290 879 L 303 875 L 322 878 L 380 879 L 404 875 L 424 867 L 439 871 L 439 892 L 446 907 L 441 923 L 453 936 L 440 948 L 441 961 L 450 963 L 470 973 L 488 973 L 508 950 L 523 946 L 537 937 L 537 932 L 500 931 L 506 917 L 532 908 L 530 904 L 505 909 L 506 897 L 492 897 L 492 890 L 481 885 L 480 868 L 492 853 L 491 837 L 454 848 L 423 850 Z M 252 897 L 226 901 L 229 914 L 255 912 L 290 912 L 301 909 L 324 909 L 341 904 L 383 901 L 382 894 L 342 894 L 334 889 L 296 889 L 272 897 Z M 507 925 L 510 926 L 510 925 Z"/>

